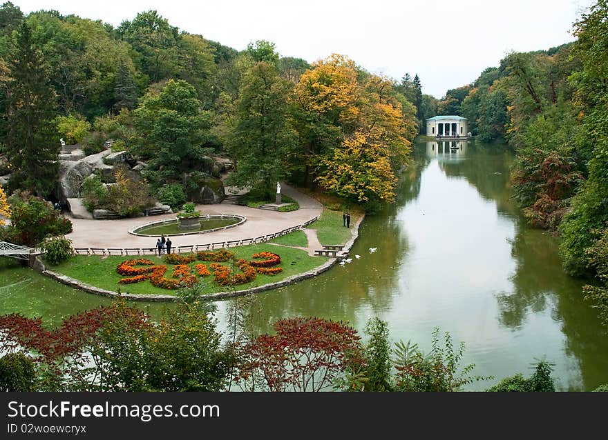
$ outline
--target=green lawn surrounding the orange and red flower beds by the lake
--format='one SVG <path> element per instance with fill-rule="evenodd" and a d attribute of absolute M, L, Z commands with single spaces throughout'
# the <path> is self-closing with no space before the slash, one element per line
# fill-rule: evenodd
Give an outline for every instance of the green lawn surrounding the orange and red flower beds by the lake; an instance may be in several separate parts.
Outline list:
<path fill-rule="evenodd" d="M 199 283 L 202 283 L 204 290 L 207 293 L 225 292 L 229 290 L 243 290 L 246 288 L 263 286 L 269 283 L 275 283 L 285 278 L 292 277 L 293 275 L 307 272 L 318 266 L 321 266 L 325 261 L 326 257 L 310 257 L 305 251 L 293 248 L 284 248 L 279 246 L 272 246 L 269 244 L 255 244 L 251 246 L 240 246 L 238 248 L 231 248 L 231 252 L 236 254 L 237 258 L 251 260 L 251 255 L 257 252 L 274 252 L 281 256 L 283 262 L 281 268 L 283 272 L 276 275 L 257 274 L 256 279 L 246 284 L 240 284 L 238 286 L 218 286 L 213 282 L 213 274 L 210 277 L 199 278 Z M 105 290 L 111 290 L 116 292 L 119 288 L 123 293 L 132 294 L 175 294 L 175 290 L 168 290 L 152 286 L 149 280 L 142 281 L 141 283 L 134 284 L 119 284 L 118 281 L 122 275 L 116 272 L 117 266 L 127 259 L 137 259 L 137 256 L 119 256 L 111 255 L 110 257 L 102 258 L 97 255 L 90 257 L 79 255 L 70 258 L 68 261 L 59 264 L 59 266 L 48 266 L 49 270 L 53 272 L 59 272 L 67 275 L 68 277 L 83 281 L 84 283 L 90 284 L 98 288 Z M 144 257 L 155 263 L 162 264 L 162 259 L 155 255 L 146 255 Z M 209 267 L 209 261 L 194 261 L 189 266 L 194 267 L 197 263 L 205 263 Z M 225 264 L 225 263 L 222 263 Z M 168 270 L 164 276 L 167 278 L 171 277 L 172 267 L 167 265 Z M 193 273 L 196 273 L 192 270 Z"/>

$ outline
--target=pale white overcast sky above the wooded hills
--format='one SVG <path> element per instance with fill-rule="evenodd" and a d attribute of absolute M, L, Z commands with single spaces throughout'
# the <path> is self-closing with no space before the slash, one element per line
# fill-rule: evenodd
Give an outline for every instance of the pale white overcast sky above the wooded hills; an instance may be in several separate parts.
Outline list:
<path fill-rule="evenodd" d="M 513 51 L 573 41 L 572 23 L 592 0 L 12 0 L 29 12 L 99 19 L 114 26 L 155 9 L 172 26 L 243 50 L 273 41 L 309 62 L 345 54 L 370 72 L 417 73 L 440 98 Z"/>

